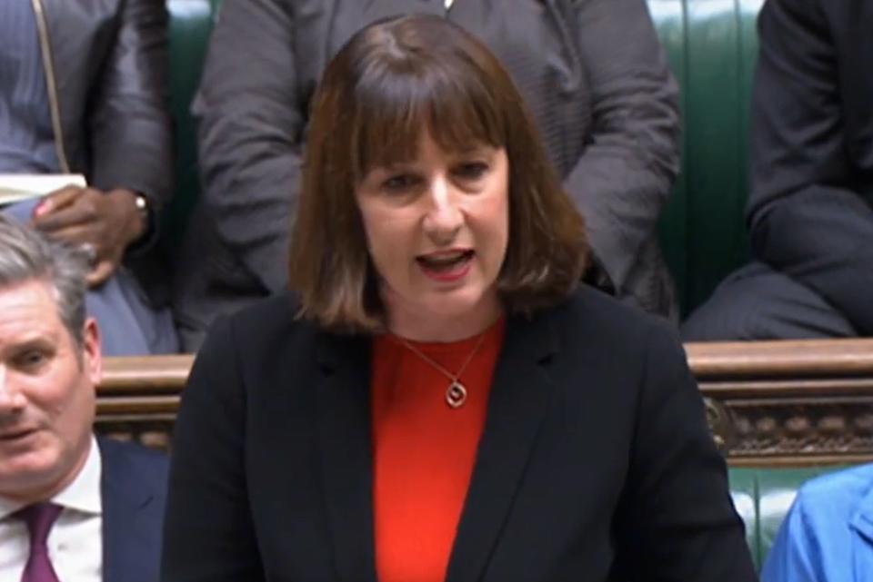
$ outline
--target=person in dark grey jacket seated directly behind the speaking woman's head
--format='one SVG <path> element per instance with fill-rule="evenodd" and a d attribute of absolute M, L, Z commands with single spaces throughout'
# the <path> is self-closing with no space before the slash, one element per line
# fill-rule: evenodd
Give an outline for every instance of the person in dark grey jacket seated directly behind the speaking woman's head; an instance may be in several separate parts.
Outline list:
<path fill-rule="evenodd" d="M 316 83 L 362 26 L 411 13 L 463 26 L 512 74 L 587 220 L 585 279 L 676 319 L 656 225 L 679 166 L 678 88 L 645 0 L 226 0 L 194 104 L 204 192 L 175 281 L 184 350 L 286 289 Z"/>

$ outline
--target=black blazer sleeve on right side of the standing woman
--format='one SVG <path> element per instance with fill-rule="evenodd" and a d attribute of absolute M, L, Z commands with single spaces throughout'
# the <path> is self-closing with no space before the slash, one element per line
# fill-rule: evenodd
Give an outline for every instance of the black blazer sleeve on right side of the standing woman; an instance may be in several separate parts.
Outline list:
<path fill-rule="evenodd" d="M 685 353 L 666 324 L 653 331 L 620 504 L 619 562 L 632 580 L 756 581 Z"/>

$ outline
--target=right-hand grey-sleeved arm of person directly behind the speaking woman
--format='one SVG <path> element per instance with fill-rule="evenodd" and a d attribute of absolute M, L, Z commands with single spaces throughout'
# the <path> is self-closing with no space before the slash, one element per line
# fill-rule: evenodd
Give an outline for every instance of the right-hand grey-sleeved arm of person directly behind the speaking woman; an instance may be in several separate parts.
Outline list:
<path fill-rule="evenodd" d="M 564 185 L 586 218 L 595 260 L 623 296 L 678 173 L 678 88 L 643 0 L 578 2 L 577 30 L 592 126 Z"/>

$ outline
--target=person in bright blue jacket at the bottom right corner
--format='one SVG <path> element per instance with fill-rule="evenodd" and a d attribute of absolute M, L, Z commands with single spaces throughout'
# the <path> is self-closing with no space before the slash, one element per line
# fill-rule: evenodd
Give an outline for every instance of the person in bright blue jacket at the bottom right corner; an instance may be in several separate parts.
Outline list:
<path fill-rule="evenodd" d="M 873 465 L 809 481 L 779 529 L 762 582 L 873 582 Z"/>

